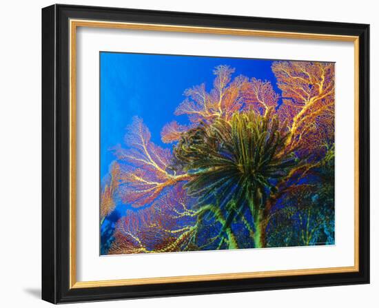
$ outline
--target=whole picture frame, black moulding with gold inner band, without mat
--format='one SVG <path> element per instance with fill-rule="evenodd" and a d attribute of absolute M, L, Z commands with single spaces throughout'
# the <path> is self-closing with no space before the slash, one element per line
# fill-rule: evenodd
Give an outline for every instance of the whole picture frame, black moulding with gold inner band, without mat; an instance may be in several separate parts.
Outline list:
<path fill-rule="evenodd" d="M 76 241 L 81 221 L 76 214 L 83 212 L 76 207 L 76 199 L 82 194 L 76 185 L 79 181 L 76 169 L 81 163 L 76 161 L 76 155 L 78 149 L 83 149 L 83 139 L 76 138 L 76 127 L 79 127 L 76 104 L 82 93 L 76 74 L 76 52 L 84 44 L 77 40 L 81 28 L 115 29 L 120 33 L 126 29 L 137 30 L 140 34 L 167 32 L 241 39 L 271 38 L 298 40 L 298 44 L 312 40 L 351 43 L 354 48 L 354 57 L 349 58 L 354 67 L 354 98 L 351 98 L 354 121 L 347 125 L 354 127 L 354 136 L 345 135 L 344 138 L 354 141 L 351 147 L 354 168 L 349 165 L 354 169 L 351 178 L 354 200 L 350 200 L 354 209 L 354 220 L 351 220 L 354 236 L 350 238 L 354 243 L 354 251 L 351 251 L 354 265 L 78 280 L 79 265 L 83 265 L 83 260 L 80 264 L 77 262 L 78 245 L 83 245 L 83 241 Z M 92 35 L 96 37 L 96 33 Z M 92 110 L 99 111 L 96 107 Z M 91 116 L 83 115 L 83 110 L 78 113 L 84 116 L 81 119 Z M 98 165 L 93 168 L 97 170 Z M 218 256 L 223 253 L 218 252 Z M 274 253 L 280 258 L 283 250 Z M 169 254 L 160 258 L 169 258 Z M 42 9 L 43 300 L 57 304 L 365 284 L 369 283 L 369 264 L 369 25 L 57 4 Z"/>

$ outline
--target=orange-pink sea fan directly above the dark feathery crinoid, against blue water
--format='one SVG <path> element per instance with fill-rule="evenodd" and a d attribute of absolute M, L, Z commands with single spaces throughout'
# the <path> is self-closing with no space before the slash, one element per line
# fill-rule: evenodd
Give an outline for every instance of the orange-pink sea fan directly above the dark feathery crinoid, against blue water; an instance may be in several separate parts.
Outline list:
<path fill-rule="evenodd" d="M 255 110 L 265 114 L 270 107 L 277 106 L 279 96 L 269 81 L 249 80 L 243 75 L 232 79 L 234 71 L 228 65 L 218 65 L 214 69 L 212 90 L 207 92 L 204 83 L 185 90 L 186 99 L 178 105 L 175 114 L 187 115 L 192 125 L 168 123 L 161 132 L 162 141 L 178 141 L 181 134 L 199 123 L 211 124 L 216 119 L 230 121 L 235 112 Z"/>

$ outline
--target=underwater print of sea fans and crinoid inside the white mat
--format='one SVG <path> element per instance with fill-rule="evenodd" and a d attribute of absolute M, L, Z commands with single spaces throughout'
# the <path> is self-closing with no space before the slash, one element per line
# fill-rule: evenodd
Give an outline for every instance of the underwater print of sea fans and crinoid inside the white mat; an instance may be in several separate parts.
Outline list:
<path fill-rule="evenodd" d="M 100 52 L 100 254 L 335 244 L 335 63 Z"/>

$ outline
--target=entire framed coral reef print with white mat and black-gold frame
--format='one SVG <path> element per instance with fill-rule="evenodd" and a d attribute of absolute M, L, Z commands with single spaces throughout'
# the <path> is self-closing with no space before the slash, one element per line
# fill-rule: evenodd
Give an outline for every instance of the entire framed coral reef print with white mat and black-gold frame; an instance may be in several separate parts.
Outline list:
<path fill-rule="evenodd" d="M 369 25 L 42 10 L 42 298 L 369 283 Z"/>

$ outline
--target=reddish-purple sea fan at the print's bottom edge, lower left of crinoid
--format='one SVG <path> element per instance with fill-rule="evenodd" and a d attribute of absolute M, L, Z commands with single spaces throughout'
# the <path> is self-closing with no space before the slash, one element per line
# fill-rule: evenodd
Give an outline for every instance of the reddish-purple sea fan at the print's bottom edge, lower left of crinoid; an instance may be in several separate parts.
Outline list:
<path fill-rule="evenodd" d="M 127 210 L 116 224 L 110 254 L 183 251 L 195 230 L 190 202 L 178 184 L 150 207 Z"/>

